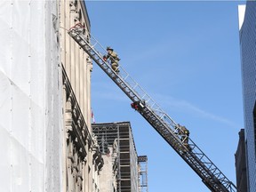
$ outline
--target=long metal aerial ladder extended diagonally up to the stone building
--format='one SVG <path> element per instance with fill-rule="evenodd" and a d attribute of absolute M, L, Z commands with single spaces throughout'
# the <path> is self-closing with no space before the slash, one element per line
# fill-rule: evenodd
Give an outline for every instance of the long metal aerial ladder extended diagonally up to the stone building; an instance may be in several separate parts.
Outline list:
<path fill-rule="evenodd" d="M 168 116 L 155 100 L 152 100 L 120 64 L 118 73 L 111 68 L 108 60 L 103 58 L 107 54 L 106 49 L 88 31 L 85 32 L 81 24 L 70 28 L 68 34 L 132 100 L 132 108 L 135 108 L 152 125 L 156 132 L 197 173 L 207 188 L 212 192 L 238 192 L 233 182 L 228 180 L 188 135 L 184 134 L 180 129 L 180 124 L 176 124 L 172 117 Z"/>

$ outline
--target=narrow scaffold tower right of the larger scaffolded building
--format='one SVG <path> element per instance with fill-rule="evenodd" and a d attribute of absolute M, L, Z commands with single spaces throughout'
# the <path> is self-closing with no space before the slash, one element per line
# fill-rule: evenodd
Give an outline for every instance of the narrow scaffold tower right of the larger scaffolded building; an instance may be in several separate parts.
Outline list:
<path fill-rule="evenodd" d="M 148 156 L 138 156 L 139 191 L 148 192 Z"/>

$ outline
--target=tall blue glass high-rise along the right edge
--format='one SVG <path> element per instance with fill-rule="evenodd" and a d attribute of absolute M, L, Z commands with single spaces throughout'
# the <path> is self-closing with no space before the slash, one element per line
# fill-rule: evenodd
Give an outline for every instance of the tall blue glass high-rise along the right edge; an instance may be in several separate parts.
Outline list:
<path fill-rule="evenodd" d="M 239 7 L 248 189 L 256 191 L 256 1 Z"/>

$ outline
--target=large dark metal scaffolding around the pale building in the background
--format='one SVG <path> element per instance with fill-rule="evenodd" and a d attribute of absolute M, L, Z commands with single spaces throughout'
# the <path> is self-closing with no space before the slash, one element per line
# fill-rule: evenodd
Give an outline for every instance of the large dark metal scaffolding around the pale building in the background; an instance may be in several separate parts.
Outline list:
<path fill-rule="evenodd" d="M 109 147 L 117 145 L 113 172 L 116 170 L 117 191 L 139 191 L 137 152 L 129 122 L 92 124 L 102 154 L 108 155 Z"/>

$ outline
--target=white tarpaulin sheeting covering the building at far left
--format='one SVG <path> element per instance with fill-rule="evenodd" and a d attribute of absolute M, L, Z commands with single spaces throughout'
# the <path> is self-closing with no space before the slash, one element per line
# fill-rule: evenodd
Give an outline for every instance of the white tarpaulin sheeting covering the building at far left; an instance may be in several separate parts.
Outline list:
<path fill-rule="evenodd" d="M 57 11 L 56 1 L 0 1 L 3 192 L 61 191 L 63 118 Z"/>

